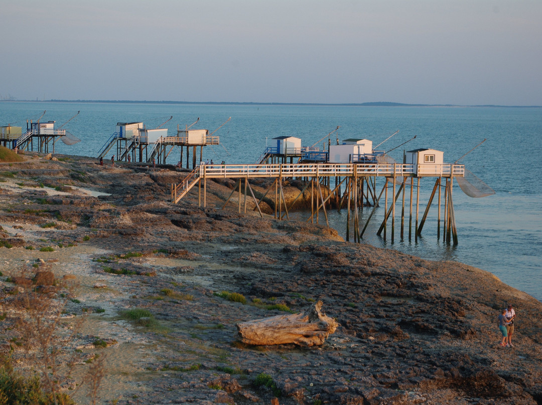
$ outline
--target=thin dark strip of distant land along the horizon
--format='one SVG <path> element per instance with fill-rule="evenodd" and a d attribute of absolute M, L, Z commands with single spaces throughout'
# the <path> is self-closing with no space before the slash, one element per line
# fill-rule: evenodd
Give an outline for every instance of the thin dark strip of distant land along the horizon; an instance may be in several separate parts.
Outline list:
<path fill-rule="evenodd" d="M 337 106 L 337 107 L 507 107 L 540 108 L 542 106 L 501 106 L 498 104 L 460 105 L 460 104 L 407 104 L 388 101 L 366 103 L 277 103 L 277 102 L 242 102 L 242 101 L 147 101 L 147 100 L 0 100 L 0 102 L 53 102 L 53 103 L 119 103 L 119 104 L 216 104 L 239 106 Z"/>

